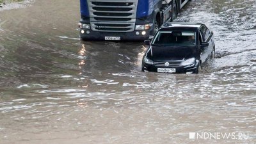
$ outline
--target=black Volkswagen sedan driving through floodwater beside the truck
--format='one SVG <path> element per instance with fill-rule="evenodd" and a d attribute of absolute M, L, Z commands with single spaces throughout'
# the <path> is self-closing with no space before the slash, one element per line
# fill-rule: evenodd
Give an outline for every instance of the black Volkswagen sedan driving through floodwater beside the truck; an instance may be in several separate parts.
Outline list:
<path fill-rule="evenodd" d="M 143 56 L 142 71 L 198 74 L 214 58 L 214 36 L 204 24 L 166 22 Z"/>

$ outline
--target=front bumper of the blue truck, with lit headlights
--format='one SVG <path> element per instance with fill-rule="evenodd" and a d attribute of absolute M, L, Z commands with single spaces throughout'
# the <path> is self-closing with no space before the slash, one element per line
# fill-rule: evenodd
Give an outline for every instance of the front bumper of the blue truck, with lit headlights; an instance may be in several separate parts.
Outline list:
<path fill-rule="evenodd" d="M 142 32 L 145 31 L 145 35 L 142 35 Z M 105 40 L 105 36 L 120 36 L 121 41 L 141 41 L 147 40 L 149 37 L 149 30 L 138 30 L 132 32 L 98 32 L 92 31 L 92 29 L 80 29 L 80 37 L 82 40 Z"/>

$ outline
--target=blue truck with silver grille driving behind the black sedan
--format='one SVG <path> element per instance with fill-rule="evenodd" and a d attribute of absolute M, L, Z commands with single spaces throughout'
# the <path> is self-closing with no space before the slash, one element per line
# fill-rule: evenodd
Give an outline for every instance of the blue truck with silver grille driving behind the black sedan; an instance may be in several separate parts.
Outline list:
<path fill-rule="evenodd" d="M 82 40 L 146 40 L 188 0 L 80 0 Z"/>

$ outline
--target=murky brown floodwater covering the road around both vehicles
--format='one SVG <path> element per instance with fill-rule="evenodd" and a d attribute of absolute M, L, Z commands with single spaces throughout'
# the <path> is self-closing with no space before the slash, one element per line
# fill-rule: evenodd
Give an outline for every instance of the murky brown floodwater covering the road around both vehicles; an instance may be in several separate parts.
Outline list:
<path fill-rule="evenodd" d="M 255 10 L 187 4 L 178 20 L 204 22 L 216 40 L 198 75 L 140 72 L 143 42 L 81 42 L 78 1 L 0 10 L 0 143 L 256 143 Z"/>

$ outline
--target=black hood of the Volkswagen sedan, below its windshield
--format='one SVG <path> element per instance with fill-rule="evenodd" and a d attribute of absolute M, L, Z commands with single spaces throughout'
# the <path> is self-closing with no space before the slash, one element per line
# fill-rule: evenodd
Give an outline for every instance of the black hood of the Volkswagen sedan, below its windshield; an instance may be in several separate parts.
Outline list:
<path fill-rule="evenodd" d="M 147 56 L 153 61 L 184 60 L 196 56 L 196 47 L 152 46 Z"/>

